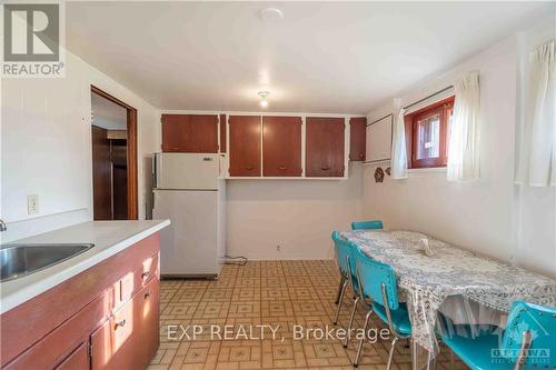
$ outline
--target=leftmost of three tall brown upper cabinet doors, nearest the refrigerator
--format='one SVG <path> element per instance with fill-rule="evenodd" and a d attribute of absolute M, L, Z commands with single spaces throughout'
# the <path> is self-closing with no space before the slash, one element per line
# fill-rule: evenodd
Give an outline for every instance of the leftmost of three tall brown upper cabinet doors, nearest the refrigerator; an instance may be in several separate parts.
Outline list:
<path fill-rule="evenodd" d="M 260 176 L 260 116 L 230 116 L 230 176 Z"/>

